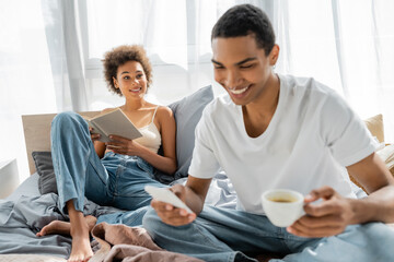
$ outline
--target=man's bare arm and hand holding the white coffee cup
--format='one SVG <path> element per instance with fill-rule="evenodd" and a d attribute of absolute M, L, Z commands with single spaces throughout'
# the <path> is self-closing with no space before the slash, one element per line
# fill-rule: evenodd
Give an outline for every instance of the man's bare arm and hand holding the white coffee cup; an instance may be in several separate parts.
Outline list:
<path fill-rule="evenodd" d="M 346 226 L 368 222 L 394 222 L 394 179 L 379 156 L 372 153 L 347 167 L 348 172 L 366 188 L 364 199 L 346 199 L 329 187 L 313 190 L 305 196 L 306 215 L 288 227 L 302 237 L 328 237 Z M 323 199 L 321 203 L 314 201 Z"/>

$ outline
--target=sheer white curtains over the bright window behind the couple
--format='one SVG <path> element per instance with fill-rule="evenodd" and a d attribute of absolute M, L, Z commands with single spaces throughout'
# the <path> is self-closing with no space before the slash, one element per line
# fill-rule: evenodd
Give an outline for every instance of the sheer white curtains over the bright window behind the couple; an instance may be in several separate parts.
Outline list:
<path fill-rule="evenodd" d="M 0 162 L 27 176 L 20 116 L 100 110 L 123 99 L 103 81 L 103 55 L 143 45 L 153 63 L 148 99 L 179 99 L 215 83 L 210 32 L 230 7 L 252 3 L 273 21 L 278 73 L 313 76 L 361 116 L 383 114 L 394 142 L 394 2 L 391 0 L 0 0 Z"/>

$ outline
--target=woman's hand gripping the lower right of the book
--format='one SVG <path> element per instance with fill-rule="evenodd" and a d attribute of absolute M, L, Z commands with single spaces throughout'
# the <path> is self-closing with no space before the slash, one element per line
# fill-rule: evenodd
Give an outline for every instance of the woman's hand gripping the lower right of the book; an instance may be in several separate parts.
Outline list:
<path fill-rule="evenodd" d="M 140 156 L 141 151 L 144 148 L 139 143 L 121 138 L 119 135 L 109 135 L 111 142 L 105 143 L 106 148 L 117 154 Z"/>

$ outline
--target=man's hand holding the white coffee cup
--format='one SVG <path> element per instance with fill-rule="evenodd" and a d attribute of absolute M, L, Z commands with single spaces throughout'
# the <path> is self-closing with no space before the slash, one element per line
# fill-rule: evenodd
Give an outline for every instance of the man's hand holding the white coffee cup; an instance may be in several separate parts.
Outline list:
<path fill-rule="evenodd" d="M 312 203 L 318 199 L 321 203 Z M 305 196 L 305 215 L 287 230 L 300 237 L 328 237 L 340 234 L 355 215 L 350 199 L 339 195 L 334 189 L 323 187 Z"/>

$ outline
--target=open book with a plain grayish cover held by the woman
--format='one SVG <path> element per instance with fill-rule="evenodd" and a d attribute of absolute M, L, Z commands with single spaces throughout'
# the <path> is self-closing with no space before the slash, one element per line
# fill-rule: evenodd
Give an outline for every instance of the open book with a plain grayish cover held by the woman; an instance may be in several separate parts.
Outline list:
<path fill-rule="evenodd" d="M 93 118 L 83 118 L 89 123 L 89 127 L 93 128 L 93 133 L 101 134 L 100 141 L 102 142 L 109 142 L 109 134 L 116 134 L 129 140 L 142 136 L 140 131 L 136 128 L 136 126 L 134 126 L 120 108 Z"/>

